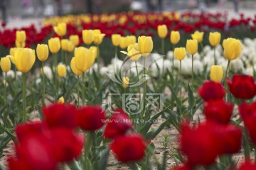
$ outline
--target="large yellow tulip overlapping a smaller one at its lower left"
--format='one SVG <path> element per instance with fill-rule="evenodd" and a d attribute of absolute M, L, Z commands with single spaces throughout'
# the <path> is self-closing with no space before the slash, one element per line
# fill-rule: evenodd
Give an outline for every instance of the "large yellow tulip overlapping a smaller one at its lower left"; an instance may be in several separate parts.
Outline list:
<path fill-rule="evenodd" d="M 94 62 L 95 57 L 92 57 L 92 51 L 88 50 L 86 47 L 75 48 L 75 66 L 80 72 L 85 72 L 90 69 Z"/>

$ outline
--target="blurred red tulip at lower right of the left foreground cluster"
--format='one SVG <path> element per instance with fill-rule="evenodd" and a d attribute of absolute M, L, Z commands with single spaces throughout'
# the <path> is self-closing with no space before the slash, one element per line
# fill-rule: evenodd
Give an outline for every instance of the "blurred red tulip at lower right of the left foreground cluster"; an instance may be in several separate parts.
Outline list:
<path fill-rule="evenodd" d="M 51 142 L 53 144 L 55 158 L 60 162 L 70 162 L 77 159 L 83 147 L 83 136 L 75 134 L 65 128 L 51 130 Z"/>

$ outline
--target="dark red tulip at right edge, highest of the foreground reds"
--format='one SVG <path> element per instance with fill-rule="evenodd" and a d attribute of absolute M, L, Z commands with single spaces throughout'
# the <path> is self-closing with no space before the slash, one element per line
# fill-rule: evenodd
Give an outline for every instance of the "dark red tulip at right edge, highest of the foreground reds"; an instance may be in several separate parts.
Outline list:
<path fill-rule="evenodd" d="M 228 87 L 235 98 L 248 99 L 256 94 L 256 85 L 252 76 L 233 75 L 233 79 L 227 79 Z"/>

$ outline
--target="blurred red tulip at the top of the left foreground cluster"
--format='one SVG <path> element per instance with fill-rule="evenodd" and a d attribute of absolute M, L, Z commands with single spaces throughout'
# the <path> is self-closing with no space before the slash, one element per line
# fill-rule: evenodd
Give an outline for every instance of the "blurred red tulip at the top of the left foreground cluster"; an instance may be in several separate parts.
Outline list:
<path fill-rule="evenodd" d="M 48 128 L 75 129 L 78 126 L 75 119 L 75 106 L 72 104 L 53 103 L 43 108 L 43 115 Z"/>

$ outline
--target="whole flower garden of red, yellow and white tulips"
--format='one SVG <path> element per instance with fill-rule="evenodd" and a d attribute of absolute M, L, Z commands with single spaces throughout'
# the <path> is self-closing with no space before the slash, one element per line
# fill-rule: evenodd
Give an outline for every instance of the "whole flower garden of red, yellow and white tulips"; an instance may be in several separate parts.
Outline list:
<path fill-rule="evenodd" d="M 256 16 L 42 24 L 1 24 L 0 169 L 256 169 Z"/>

